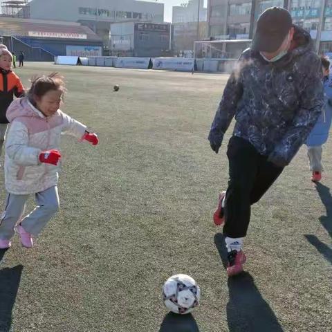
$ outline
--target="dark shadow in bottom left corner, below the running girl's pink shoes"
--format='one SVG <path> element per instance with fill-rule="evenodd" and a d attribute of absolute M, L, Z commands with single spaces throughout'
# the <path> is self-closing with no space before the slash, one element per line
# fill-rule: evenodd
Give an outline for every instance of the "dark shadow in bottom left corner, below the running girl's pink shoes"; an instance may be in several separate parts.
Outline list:
<path fill-rule="evenodd" d="M 0 270 L 0 331 L 11 331 L 12 307 L 15 304 L 23 266 Z"/>

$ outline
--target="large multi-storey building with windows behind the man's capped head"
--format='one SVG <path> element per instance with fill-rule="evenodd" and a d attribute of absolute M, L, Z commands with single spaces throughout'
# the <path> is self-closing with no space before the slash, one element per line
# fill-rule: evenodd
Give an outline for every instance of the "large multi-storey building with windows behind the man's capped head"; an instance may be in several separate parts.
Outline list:
<path fill-rule="evenodd" d="M 321 15 L 324 1 L 326 8 Z M 313 39 L 321 25 L 320 51 L 332 53 L 332 0 L 208 0 L 210 39 L 248 39 L 252 5 L 255 6 L 253 31 L 261 12 L 274 6 L 284 7 L 291 12 L 294 23 L 308 30 Z"/>

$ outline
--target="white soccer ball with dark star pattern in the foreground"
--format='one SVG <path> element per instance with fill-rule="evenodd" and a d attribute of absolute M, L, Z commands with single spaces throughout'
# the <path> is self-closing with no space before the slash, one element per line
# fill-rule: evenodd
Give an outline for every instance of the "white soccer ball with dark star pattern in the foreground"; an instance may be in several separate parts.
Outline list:
<path fill-rule="evenodd" d="M 190 313 L 199 305 L 201 290 L 189 275 L 173 275 L 164 284 L 163 300 L 173 313 Z"/>

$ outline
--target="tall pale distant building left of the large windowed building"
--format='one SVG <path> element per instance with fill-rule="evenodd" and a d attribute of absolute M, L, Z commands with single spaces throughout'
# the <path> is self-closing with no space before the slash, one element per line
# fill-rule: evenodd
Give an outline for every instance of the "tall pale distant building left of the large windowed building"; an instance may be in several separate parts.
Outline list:
<path fill-rule="evenodd" d="M 208 37 L 207 8 L 203 0 L 190 0 L 173 7 L 172 50 L 176 55 L 193 56 L 194 42 Z"/>

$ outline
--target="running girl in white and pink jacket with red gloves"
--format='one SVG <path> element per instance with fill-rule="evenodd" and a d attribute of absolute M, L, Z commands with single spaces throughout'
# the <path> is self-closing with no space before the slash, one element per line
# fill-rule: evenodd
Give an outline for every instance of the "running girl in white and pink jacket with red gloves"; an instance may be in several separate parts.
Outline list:
<path fill-rule="evenodd" d="M 66 88 L 57 73 L 33 80 L 28 95 L 12 102 L 7 117 L 10 129 L 6 140 L 6 208 L 0 221 L 0 248 L 10 248 L 15 230 L 26 248 L 59 209 L 57 181 L 59 143 L 62 131 L 98 144 L 98 136 L 84 124 L 59 110 Z M 33 194 L 37 207 L 22 218 L 26 201 Z M 15 229 L 15 230 L 14 230 Z"/>

